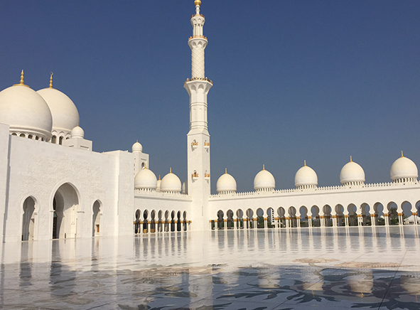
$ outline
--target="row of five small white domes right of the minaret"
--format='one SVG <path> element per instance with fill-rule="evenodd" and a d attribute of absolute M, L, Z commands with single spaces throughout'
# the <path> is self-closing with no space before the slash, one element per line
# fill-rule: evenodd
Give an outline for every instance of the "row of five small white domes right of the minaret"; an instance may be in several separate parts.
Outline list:
<path fill-rule="evenodd" d="M 401 154 L 401 157 L 394 161 L 390 175 L 394 183 L 414 183 L 419 176 L 416 164 L 411 159 L 404 157 L 404 154 Z M 340 171 L 340 183 L 343 186 L 362 186 L 365 184 L 365 171 L 359 164 L 352 161 L 351 156 L 350 161 Z M 306 161 L 303 167 L 296 172 L 295 186 L 298 189 L 316 188 L 318 186 L 318 176 L 311 167 L 306 166 Z M 255 191 L 273 191 L 275 187 L 274 176 L 266 171 L 263 166 L 262 171 L 259 171 L 254 178 Z M 220 194 L 235 193 L 237 191 L 235 178 L 225 171 L 225 174 L 217 180 L 216 190 Z"/>

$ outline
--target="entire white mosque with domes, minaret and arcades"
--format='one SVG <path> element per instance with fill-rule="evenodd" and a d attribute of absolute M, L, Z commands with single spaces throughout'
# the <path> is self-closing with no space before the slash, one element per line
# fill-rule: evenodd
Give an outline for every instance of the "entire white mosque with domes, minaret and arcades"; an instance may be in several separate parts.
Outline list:
<path fill-rule="evenodd" d="M 237 193 L 223 174 L 210 191 L 210 134 L 203 36 L 205 18 L 195 0 L 191 18 L 188 179 L 174 173 L 157 180 L 139 142 L 132 151 L 92 151 L 70 98 L 53 87 L 32 90 L 21 80 L 0 92 L 0 235 L 3 242 L 151 234 L 182 230 L 280 229 L 313 226 L 398 225 L 414 218 L 420 203 L 418 171 L 402 156 L 391 182 L 365 184 L 352 161 L 340 171 L 341 186 L 318 188 L 306 163 L 294 189 L 276 189 L 264 166 L 255 191 Z M 390 214 L 395 214 L 393 223 Z"/>

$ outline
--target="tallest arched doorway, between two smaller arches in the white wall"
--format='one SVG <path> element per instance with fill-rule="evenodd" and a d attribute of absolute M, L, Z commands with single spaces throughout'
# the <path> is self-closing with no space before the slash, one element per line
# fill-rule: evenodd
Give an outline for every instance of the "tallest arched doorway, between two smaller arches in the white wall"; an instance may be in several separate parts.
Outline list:
<path fill-rule="evenodd" d="M 60 186 L 53 198 L 53 239 L 76 237 L 78 206 L 75 188 L 69 183 Z"/>

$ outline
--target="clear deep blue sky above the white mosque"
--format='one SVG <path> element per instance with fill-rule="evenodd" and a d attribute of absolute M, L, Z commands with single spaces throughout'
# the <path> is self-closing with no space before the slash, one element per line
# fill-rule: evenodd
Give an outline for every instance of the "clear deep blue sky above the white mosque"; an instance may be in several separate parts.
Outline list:
<path fill-rule="evenodd" d="M 0 89 L 75 102 L 95 151 L 139 139 L 162 176 L 186 178 L 193 0 L 1 1 Z M 293 188 L 306 160 L 318 186 L 353 160 L 388 182 L 420 164 L 420 1 L 203 0 L 212 191 L 225 168 L 252 191 L 265 164 Z"/>

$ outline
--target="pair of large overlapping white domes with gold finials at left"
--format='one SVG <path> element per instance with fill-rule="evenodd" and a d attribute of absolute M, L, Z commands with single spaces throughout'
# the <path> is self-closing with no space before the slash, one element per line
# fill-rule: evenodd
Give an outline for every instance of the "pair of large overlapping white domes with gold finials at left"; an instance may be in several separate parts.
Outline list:
<path fill-rule="evenodd" d="M 23 81 L 0 92 L 0 123 L 8 124 L 10 132 L 33 135 L 48 141 L 53 132 L 70 136 L 79 124 L 79 112 L 72 100 L 60 90 L 50 86 L 32 90 Z"/>

